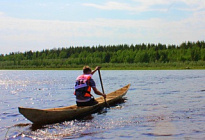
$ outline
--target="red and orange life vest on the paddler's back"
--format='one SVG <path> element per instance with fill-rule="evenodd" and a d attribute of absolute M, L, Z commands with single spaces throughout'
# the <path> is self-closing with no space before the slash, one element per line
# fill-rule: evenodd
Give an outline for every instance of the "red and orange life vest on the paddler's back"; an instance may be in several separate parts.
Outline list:
<path fill-rule="evenodd" d="M 76 95 L 76 91 L 81 91 L 82 95 L 84 97 L 91 97 L 91 86 L 90 86 L 90 79 L 91 74 L 83 74 L 77 77 L 76 84 L 75 84 L 75 92 L 74 95 Z"/>

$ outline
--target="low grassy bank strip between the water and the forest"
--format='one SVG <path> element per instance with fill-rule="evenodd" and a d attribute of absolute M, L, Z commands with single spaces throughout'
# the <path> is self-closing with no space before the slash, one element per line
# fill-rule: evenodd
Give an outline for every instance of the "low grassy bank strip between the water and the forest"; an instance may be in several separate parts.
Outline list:
<path fill-rule="evenodd" d="M 92 68 L 101 66 L 103 70 L 183 70 L 183 69 L 205 69 L 205 61 L 172 62 L 172 63 L 95 63 L 87 64 Z M 0 69 L 6 70 L 80 70 L 84 65 L 68 64 L 57 66 L 35 66 L 35 65 L 3 65 Z"/>

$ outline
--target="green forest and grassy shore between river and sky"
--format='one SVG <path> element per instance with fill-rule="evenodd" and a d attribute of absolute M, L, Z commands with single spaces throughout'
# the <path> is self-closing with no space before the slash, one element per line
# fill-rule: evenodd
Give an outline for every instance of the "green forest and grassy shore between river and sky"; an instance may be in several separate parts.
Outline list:
<path fill-rule="evenodd" d="M 107 69 L 204 69 L 205 42 L 71 46 L 0 55 L 0 69 L 75 69 L 84 65 Z"/>

